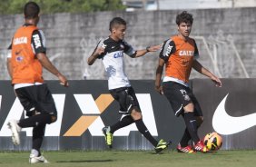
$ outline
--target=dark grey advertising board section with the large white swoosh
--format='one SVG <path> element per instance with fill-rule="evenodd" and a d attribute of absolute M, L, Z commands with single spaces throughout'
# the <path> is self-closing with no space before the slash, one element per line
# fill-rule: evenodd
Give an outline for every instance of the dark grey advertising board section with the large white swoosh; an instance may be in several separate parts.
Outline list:
<path fill-rule="evenodd" d="M 222 149 L 256 148 L 256 79 L 193 79 L 192 91 L 201 103 L 204 123 L 200 134 L 222 134 Z"/>

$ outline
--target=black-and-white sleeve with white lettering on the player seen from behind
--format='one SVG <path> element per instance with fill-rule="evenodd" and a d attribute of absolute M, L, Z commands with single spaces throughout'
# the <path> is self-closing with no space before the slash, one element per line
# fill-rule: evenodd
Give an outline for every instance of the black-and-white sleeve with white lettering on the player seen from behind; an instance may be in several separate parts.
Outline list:
<path fill-rule="evenodd" d="M 42 30 L 35 30 L 32 34 L 32 48 L 34 54 L 46 53 L 45 36 Z"/>

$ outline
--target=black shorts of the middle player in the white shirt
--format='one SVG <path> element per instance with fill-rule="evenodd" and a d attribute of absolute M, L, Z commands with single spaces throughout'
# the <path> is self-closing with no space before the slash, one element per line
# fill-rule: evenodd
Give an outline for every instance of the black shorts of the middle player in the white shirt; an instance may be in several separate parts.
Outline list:
<path fill-rule="evenodd" d="M 114 100 L 116 100 L 120 105 L 119 113 L 131 114 L 133 109 L 137 112 L 141 112 L 133 87 L 121 87 L 109 91 Z"/>

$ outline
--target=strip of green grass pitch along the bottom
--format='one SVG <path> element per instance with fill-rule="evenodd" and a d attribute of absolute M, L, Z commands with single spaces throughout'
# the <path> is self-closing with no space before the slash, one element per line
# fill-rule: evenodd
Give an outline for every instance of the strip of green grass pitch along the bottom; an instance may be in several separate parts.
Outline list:
<path fill-rule="evenodd" d="M 0 152 L 1 167 L 28 166 L 29 152 Z M 219 151 L 214 153 L 185 154 L 167 151 L 152 152 L 44 152 L 51 163 L 34 166 L 76 167 L 255 167 L 256 151 Z"/>

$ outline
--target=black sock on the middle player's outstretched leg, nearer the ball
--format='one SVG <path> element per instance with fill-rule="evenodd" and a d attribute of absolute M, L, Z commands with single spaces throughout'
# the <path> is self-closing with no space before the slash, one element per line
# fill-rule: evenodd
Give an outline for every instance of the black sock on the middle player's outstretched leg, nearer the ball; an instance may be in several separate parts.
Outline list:
<path fill-rule="evenodd" d="M 151 133 L 149 132 L 149 130 L 147 129 L 147 127 L 145 126 L 145 124 L 143 123 L 143 119 L 140 120 L 136 120 L 135 124 L 139 130 L 140 133 L 143 134 L 143 136 L 153 144 L 154 147 L 156 147 L 157 145 L 157 141 L 153 138 L 153 136 L 151 135 Z"/>

